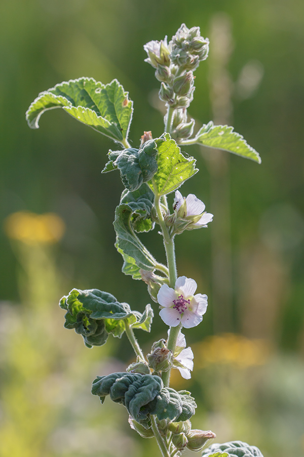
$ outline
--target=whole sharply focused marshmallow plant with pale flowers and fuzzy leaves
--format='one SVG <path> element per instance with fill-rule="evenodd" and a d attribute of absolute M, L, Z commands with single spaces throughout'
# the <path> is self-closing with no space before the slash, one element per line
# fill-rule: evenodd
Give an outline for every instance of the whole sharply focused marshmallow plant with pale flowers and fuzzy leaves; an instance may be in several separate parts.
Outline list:
<path fill-rule="evenodd" d="M 151 299 L 158 304 L 154 310 L 169 327 L 168 336 L 155 342 L 145 356 L 134 331 L 150 331 L 153 308 L 148 304 L 140 313 L 119 302 L 110 292 L 75 288 L 60 300 L 60 307 L 66 311 L 65 328 L 82 335 L 89 348 L 105 344 L 109 335 L 121 338 L 126 333 L 136 360 L 125 372 L 97 376 L 92 394 L 101 403 L 107 396 L 121 403 L 129 413 L 131 428 L 144 438 L 154 437 L 163 457 L 173 457 L 185 448 L 200 451 L 215 438 L 211 431 L 192 429 L 189 419 L 197 405 L 191 393 L 169 386 L 172 368 L 178 369 L 184 379 L 191 378 L 193 352 L 186 347 L 181 330 L 201 324 L 207 311 L 207 296 L 201 291 L 197 293 L 195 279 L 177 276 L 174 239 L 185 230 L 207 227 L 213 217 L 205 212 L 204 203 L 196 195 L 183 197 L 178 190 L 198 172 L 195 158 L 185 155 L 180 146 L 183 149 L 200 144 L 258 163 L 260 157 L 233 127 L 210 121 L 194 134 L 195 120 L 187 114 L 195 90 L 193 72 L 207 58 L 209 50 L 209 41 L 200 35 L 199 27 L 188 29 L 182 24 L 169 42 L 167 37 L 150 41 L 144 50 L 145 61 L 155 69 L 161 82 L 159 96 L 167 108 L 164 133 L 160 136 L 144 132 L 138 146 L 131 147 L 128 138 L 133 102 L 116 79 L 109 84 L 93 78 L 57 84 L 39 94 L 26 118 L 31 128 L 38 128 L 45 111 L 62 108 L 116 143 L 102 170 L 118 170 L 125 187 L 113 222 L 115 246 L 123 257 L 123 273 L 147 284 Z M 167 196 L 172 193 L 174 201 L 170 207 Z M 155 226 L 163 237 L 166 265 L 158 262 L 140 240 L 141 232 L 149 232 Z M 204 455 L 261 454 L 246 443 L 234 442 L 212 445 L 204 450 Z"/>

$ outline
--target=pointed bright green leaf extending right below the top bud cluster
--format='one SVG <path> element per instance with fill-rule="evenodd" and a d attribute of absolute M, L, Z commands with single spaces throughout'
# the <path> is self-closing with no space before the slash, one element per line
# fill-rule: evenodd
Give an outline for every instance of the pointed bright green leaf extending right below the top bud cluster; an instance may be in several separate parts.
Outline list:
<path fill-rule="evenodd" d="M 254 160 L 258 164 L 261 163 L 261 158 L 256 150 L 247 144 L 242 135 L 234 132 L 233 127 L 228 125 L 213 125 L 213 122 L 210 121 L 207 125 L 204 124 L 195 138 L 190 141 L 191 144 L 197 143 L 209 148 L 223 149 Z M 186 144 L 187 140 L 184 143 Z"/>

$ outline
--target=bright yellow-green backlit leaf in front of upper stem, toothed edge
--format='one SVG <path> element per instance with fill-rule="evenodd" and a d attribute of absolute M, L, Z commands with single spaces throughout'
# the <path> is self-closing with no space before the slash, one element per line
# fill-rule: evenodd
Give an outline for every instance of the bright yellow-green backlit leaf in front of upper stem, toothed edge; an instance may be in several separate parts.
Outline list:
<path fill-rule="evenodd" d="M 187 179 L 198 172 L 193 157 L 184 157 L 176 142 L 168 133 L 162 135 L 158 144 L 158 171 L 153 177 L 159 195 L 166 195 L 180 187 Z M 157 141 L 157 140 L 156 140 Z M 153 184 L 149 182 L 153 189 Z"/>

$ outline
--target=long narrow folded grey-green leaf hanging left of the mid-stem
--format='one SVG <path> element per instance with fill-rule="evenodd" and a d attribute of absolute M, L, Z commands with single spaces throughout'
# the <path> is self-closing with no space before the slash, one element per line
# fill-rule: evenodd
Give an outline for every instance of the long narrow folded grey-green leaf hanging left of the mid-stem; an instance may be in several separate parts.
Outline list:
<path fill-rule="evenodd" d="M 133 210 L 127 204 L 119 205 L 116 208 L 113 225 L 117 234 L 118 247 L 124 254 L 135 260 L 139 269 L 153 271 L 157 262 L 135 235 L 132 227 L 132 215 Z"/>

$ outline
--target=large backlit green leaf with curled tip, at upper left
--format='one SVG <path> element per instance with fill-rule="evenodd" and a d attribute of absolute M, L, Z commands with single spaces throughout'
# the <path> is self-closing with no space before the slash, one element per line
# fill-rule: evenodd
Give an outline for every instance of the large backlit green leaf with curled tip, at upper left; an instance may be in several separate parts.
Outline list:
<path fill-rule="evenodd" d="M 133 102 L 116 79 L 104 85 L 93 78 L 79 78 L 41 92 L 26 112 L 28 125 L 39 128 L 40 116 L 53 108 L 63 108 L 114 141 L 128 138 Z"/>

